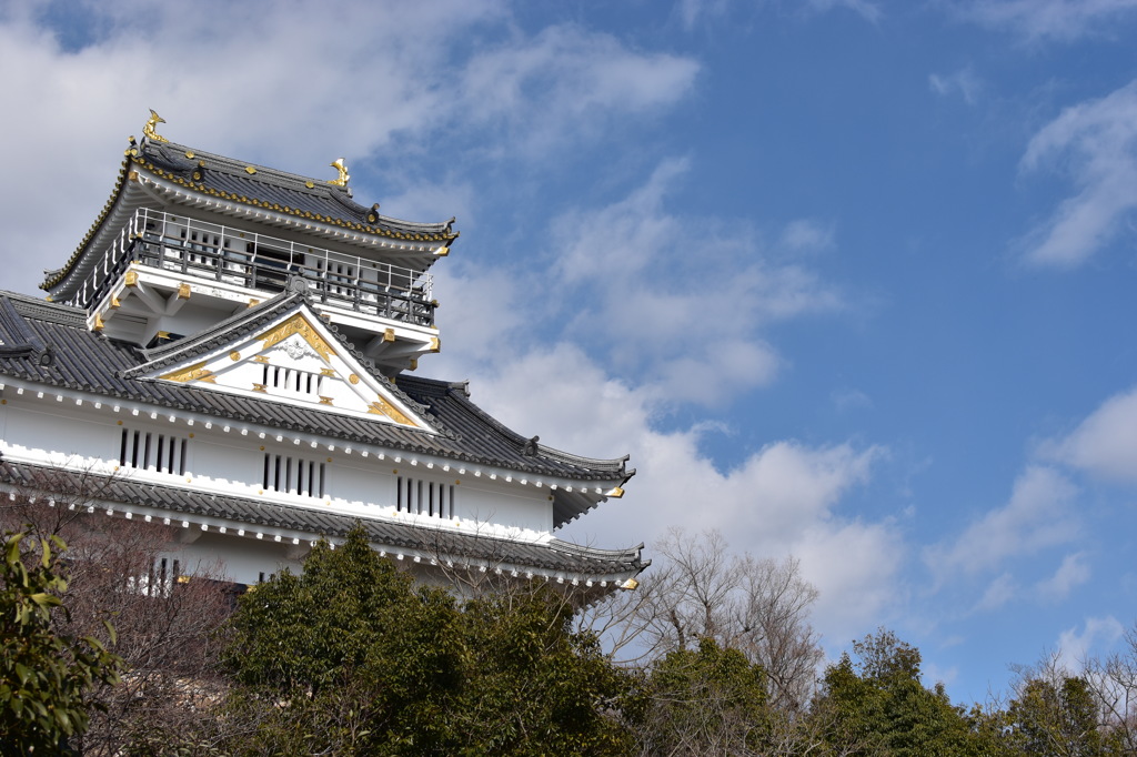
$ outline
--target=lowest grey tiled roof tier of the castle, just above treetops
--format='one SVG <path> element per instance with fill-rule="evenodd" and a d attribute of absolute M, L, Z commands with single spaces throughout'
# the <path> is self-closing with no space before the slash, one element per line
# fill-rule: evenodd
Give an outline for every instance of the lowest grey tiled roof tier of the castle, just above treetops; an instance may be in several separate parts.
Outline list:
<path fill-rule="evenodd" d="M 647 567 L 640 557 L 642 544 L 607 550 L 572 544 L 558 539 L 537 543 L 462 534 L 390 521 L 276 505 L 244 497 L 224 497 L 188 489 L 136 483 L 63 468 L 0 459 L 0 483 L 32 491 L 76 492 L 92 501 L 118 502 L 181 514 L 190 519 L 215 518 L 248 524 L 255 530 L 287 530 L 341 539 L 355 523 L 363 523 L 372 542 L 456 563 L 476 560 L 491 565 L 532 566 L 551 573 L 581 576 L 631 577 Z"/>

